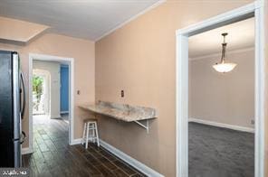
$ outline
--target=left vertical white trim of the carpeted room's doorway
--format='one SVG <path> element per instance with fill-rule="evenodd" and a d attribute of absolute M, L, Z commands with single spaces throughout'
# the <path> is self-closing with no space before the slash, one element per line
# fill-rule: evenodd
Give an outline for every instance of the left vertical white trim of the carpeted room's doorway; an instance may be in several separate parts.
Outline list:
<path fill-rule="evenodd" d="M 178 43 L 184 43 L 177 47 L 177 58 L 188 59 L 188 38 L 184 35 L 177 35 Z M 177 177 L 188 176 L 188 60 L 176 61 L 176 161 Z M 184 86 L 184 88 L 182 87 Z M 178 118 L 179 117 L 179 118 Z M 184 145 L 180 145 L 184 144 Z M 180 164 L 180 165 L 178 165 Z"/>

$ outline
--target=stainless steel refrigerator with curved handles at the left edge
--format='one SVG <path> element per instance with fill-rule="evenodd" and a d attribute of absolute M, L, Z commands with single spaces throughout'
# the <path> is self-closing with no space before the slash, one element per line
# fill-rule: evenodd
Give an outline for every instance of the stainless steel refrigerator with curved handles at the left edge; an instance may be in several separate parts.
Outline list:
<path fill-rule="evenodd" d="M 24 108 L 24 77 L 19 55 L 15 51 L 0 51 L 0 167 L 22 165 Z"/>

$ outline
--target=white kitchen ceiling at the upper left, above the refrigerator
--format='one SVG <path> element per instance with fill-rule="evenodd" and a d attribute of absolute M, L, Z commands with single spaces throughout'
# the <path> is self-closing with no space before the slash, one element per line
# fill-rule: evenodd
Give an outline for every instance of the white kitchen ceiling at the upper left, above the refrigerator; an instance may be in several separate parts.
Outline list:
<path fill-rule="evenodd" d="M 0 16 L 52 27 L 53 33 L 96 41 L 159 0 L 1 0 Z"/>

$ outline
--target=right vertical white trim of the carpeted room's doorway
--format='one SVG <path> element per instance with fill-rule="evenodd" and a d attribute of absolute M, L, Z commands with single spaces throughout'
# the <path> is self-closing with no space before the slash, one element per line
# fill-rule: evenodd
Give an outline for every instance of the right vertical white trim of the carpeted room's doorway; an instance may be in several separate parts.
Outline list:
<path fill-rule="evenodd" d="M 259 7 L 255 9 L 255 177 L 264 176 L 264 1 L 258 1 Z"/>

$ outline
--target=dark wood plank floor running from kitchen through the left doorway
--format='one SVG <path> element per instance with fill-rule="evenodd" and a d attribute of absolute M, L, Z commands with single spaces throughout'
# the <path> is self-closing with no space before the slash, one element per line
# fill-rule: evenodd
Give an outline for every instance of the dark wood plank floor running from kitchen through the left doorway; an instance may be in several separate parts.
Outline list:
<path fill-rule="evenodd" d="M 102 147 L 68 144 L 68 124 L 62 119 L 34 116 L 34 154 L 23 155 L 31 176 L 145 176 Z"/>

